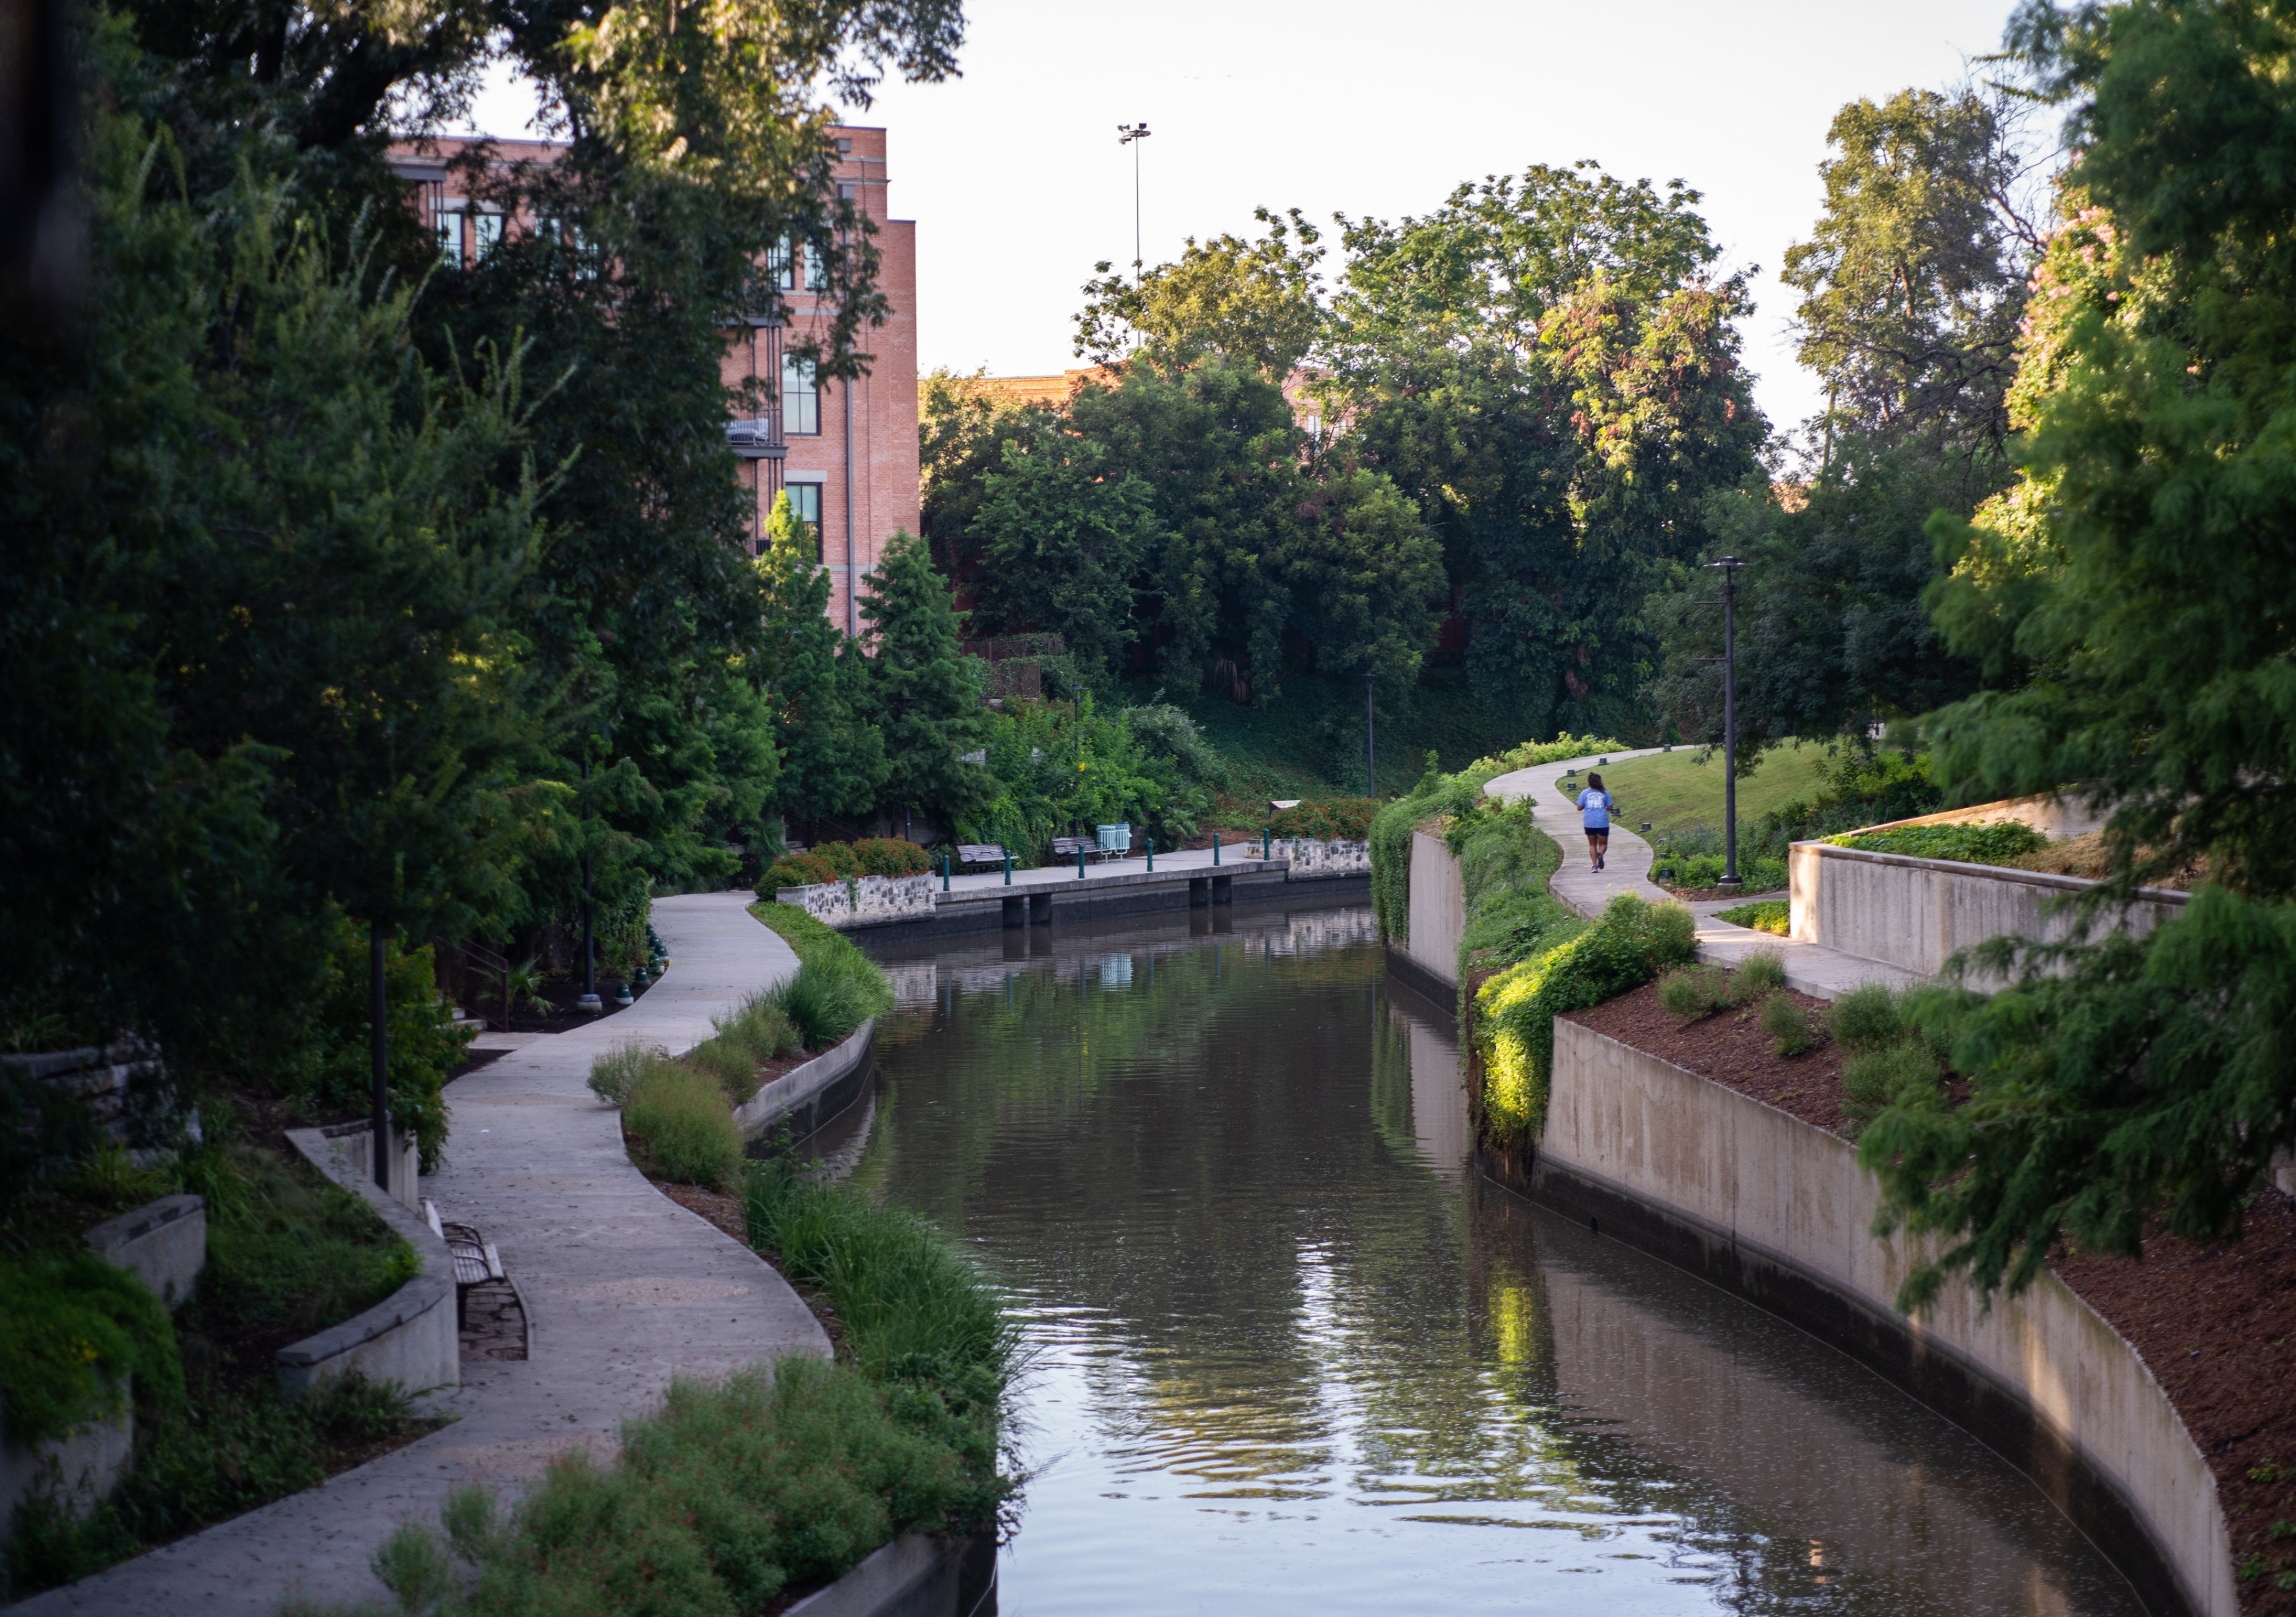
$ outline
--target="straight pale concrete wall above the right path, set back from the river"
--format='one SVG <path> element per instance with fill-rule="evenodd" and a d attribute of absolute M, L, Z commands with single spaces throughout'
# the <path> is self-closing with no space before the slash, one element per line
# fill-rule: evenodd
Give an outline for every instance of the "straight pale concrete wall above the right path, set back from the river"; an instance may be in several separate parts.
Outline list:
<path fill-rule="evenodd" d="M 2039 871 L 1876 854 L 1832 843 L 1786 850 L 1789 935 L 1908 972 L 1933 974 L 1988 937 L 2062 942 L 2073 933 L 2069 898 L 2096 882 Z M 2119 926 L 2142 937 L 2186 903 L 2147 887 Z"/>

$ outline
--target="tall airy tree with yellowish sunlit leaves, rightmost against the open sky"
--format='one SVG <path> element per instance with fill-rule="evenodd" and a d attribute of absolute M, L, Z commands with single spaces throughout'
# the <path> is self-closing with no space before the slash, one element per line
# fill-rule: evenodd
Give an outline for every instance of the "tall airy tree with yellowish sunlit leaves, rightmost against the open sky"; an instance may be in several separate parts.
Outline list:
<path fill-rule="evenodd" d="M 2016 106 L 2016 103 L 2009 103 Z M 1825 209 L 1786 250 L 1800 361 L 1830 390 L 1825 432 L 1922 441 L 1968 510 L 2009 469 L 2007 390 L 2025 315 L 2030 216 L 2018 124 L 1975 90 L 1851 101 L 1818 165 Z"/>

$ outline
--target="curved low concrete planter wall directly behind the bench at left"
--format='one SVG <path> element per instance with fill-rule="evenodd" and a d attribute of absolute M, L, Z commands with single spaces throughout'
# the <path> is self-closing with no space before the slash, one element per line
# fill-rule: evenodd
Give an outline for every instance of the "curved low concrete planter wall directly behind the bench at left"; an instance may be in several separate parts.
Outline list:
<path fill-rule="evenodd" d="M 278 1353 L 280 1385 L 303 1394 L 321 1380 L 358 1371 L 367 1380 L 395 1380 L 409 1392 L 461 1385 L 461 1332 L 455 1321 L 455 1259 L 429 1222 L 386 1197 L 374 1176 L 360 1171 L 347 1137 L 317 1128 L 289 1128 L 287 1139 L 338 1185 L 374 1208 L 422 1259 L 422 1272 L 317 1337 L 292 1341 Z M 406 1185 L 413 1194 L 413 1167 Z M 420 1197 L 418 1197 L 420 1199 Z"/>

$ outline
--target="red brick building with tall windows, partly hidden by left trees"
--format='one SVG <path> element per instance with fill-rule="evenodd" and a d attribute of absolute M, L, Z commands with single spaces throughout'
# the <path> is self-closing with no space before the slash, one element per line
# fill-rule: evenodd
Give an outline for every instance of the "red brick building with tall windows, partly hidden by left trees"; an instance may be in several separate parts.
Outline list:
<path fill-rule="evenodd" d="M 916 452 L 916 223 L 893 218 L 886 202 L 886 133 L 838 126 L 838 195 L 861 204 L 877 225 L 877 287 L 891 312 L 886 324 L 863 328 L 868 374 L 852 381 L 817 381 L 790 349 L 808 335 L 827 335 L 829 312 L 813 289 L 813 260 L 804 250 L 776 253 L 771 273 L 788 305 L 785 324 L 765 317 L 728 333 L 723 377 L 735 388 L 751 377 L 765 381 L 758 416 L 726 423 L 726 448 L 748 492 L 751 549 L 765 533 L 765 517 L 783 489 L 797 514 L 813 528 L 815 554 L 831 570 L 831 620 L 861 629 L 856 583 L 866 583 L 877 556 L 898 531 L 918 528 Z M 503 230 L 530 230 L 530 220 L 505 218 L 494 204 L 452 195 L 459 177 L 448 170 L 473 140 L 425 140 L 393 149 L 393 168 L 416 184 L 422 218 L 439 232 L 439 250 L 457 262 L 475 262 Z M 563 145 L 549 140 L 496 140 L 498 163 L 549 163 Z M 778 386 L 774 379 L 778 377 Z"/>

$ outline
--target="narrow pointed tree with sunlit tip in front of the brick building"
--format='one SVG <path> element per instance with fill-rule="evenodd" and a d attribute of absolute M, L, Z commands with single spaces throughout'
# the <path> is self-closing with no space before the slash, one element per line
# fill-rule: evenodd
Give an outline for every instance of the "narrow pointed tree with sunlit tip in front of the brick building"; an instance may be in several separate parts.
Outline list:
<path fill-rule="evenodd" d="M 886 781 L 884 737 L 868 721 L 868 659 L 829 620 L 829 570 L 790 496 L 765 521 L 765 655 L 771 662 L 781 779 L 771 806 L 794 825 L 859 820 Z"/>

